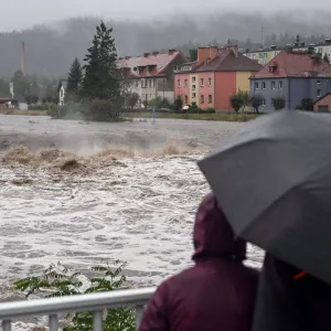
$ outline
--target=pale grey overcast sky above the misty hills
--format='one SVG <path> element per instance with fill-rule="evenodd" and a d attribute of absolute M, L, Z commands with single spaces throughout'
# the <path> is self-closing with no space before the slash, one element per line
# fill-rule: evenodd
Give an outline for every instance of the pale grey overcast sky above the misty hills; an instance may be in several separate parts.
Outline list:
<path fill-rule="evenodd" d="M 199 13 L 224 10 L 287 10 L 316 8 L 313 1 L 279 0 L 0 0 L 0 31 L 20 30 L 35 24 L 47 23 L 79 15 L 103 19 L 141 19 L 167 17 L 174 12 L 185 12 L 199 18 Z M 267 8 L 266 8 L 266 3 Z M 330 9 L 329 0 L 319 0 L 318 8 Z M 245 8 L 247 7 L 247 8 Z"/>

